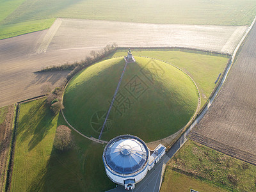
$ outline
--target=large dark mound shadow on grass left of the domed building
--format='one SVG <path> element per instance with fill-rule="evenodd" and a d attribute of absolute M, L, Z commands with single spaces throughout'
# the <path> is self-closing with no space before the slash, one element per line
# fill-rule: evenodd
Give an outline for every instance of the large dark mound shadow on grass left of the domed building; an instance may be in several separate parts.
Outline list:
<path fill-rule="evenodd" d="M 58 125 L 63 124 L 59 116 Z M 52 147 L 51 157 L 34 177 L 28 191 L 106 191 L 115 186 L 104 172 L 102 145 L 76 132 L 72 134 L 75 147 L 61 153 Z"/>

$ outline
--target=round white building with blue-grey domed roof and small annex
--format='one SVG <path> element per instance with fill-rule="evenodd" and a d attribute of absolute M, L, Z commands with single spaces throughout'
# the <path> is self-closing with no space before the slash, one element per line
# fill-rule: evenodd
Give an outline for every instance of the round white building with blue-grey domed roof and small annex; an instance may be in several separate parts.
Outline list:
<path fill-rule="evenodd" d="M 109 179 L 125 189 L 133 189 L 164 155 L 166 148 L 160 144 L 156 149 L 157 152 L 150 151 L 146 143 L 136 136 L 113 138 L 103 152 L 103 163 Z"/>

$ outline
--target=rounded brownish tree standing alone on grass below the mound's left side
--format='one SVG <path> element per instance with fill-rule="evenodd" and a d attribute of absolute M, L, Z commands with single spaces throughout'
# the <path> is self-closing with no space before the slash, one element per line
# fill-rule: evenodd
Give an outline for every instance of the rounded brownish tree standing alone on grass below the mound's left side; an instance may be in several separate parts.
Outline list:
<path fill-rule="evenodd" d="M 60 151 L 65 151 L 72 147 L 71 130 L 67 126 L 60 125 L 57 127 L 53 145 Z"/>

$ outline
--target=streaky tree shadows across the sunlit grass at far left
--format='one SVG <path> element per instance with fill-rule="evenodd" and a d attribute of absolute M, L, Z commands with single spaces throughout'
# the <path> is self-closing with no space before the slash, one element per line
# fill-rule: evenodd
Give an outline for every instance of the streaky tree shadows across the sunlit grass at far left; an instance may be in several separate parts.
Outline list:
<path fill-rule="evenodd" d="M 31 138 L 28 150 L 32 150 L 42 141 L 51 129 L 54 115 L 46 104 L 45 100 L 38 100 L 36 104 L 19 120 L 18 134 L 20 133 L 20 143 Z"/>

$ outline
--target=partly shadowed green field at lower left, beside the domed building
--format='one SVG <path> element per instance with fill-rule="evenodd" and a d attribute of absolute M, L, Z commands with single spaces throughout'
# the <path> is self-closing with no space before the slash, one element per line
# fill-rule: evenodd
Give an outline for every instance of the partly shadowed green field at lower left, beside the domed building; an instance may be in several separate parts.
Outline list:
<path fill-rule="evenodd" d="M 44 99 L 20 106 L 11 191 L 106 191 L 115 184 L 102 163 L 104 146 L 76 132 L 75 147 L 64 153 L 52 148 L 56 127 L 65 124 L 53 116 Z"/>

